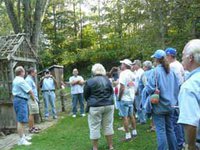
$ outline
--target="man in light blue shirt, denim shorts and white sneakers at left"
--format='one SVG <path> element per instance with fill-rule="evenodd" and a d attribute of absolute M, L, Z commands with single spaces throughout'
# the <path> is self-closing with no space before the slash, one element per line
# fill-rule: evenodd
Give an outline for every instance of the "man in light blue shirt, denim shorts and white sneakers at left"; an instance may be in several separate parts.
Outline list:
<path fill-rule="evenodd" d="M 24 125 L 28 122 L 28 99 L 31 96 L 31 100 L 35 101 L 35 96 L 31 90 L 31 87 L 24 80 L 25 70 L 22 66 L 18 66 L 15 69 L 16 77 L 12 83 L 12 94 L 14 97 L 13 106 L 17 119 L 17 131 L 20 136 L 18 145 L 30 145 L 27 140 L 31 138 L 25 136 Z"/>

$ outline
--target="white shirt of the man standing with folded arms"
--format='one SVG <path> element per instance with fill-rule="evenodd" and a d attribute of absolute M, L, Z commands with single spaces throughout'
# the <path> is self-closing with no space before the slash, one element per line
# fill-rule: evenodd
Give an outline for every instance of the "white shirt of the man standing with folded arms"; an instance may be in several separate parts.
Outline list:
<path fill-rule="evenodd" d="M 78 80 L 84 81 L 82 76 L 72 76 L 69 78 L 70 83 Z M 83 93 L 83 85 L 80 84 L 71 85 L 71 94 L 80 94 L 80 93 Z"/>

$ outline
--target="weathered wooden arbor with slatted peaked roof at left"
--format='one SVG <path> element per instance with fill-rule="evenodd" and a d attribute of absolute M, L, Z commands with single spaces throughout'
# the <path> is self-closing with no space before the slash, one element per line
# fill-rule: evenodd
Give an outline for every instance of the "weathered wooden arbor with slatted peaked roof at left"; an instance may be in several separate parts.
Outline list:
<path fill-rule="evenodd" d="M 25 34 L 0 37 L 0 130 L 15 129 L 12 81 L 16 66 L 36 68 L 37 54 Z"/>

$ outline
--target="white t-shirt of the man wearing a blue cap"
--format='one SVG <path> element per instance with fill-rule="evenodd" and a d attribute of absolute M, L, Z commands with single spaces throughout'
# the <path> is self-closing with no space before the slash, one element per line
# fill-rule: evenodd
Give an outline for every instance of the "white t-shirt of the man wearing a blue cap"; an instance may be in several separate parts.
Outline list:
<path fill-rule="evenodd" d="M 178 77 L 179 85 L 181 85 L 184 81 L 184 69 L 183 69 L 182 64 L 176 60 L 170 63 L 170 69 L 174 71 L 174 73 Z"/>

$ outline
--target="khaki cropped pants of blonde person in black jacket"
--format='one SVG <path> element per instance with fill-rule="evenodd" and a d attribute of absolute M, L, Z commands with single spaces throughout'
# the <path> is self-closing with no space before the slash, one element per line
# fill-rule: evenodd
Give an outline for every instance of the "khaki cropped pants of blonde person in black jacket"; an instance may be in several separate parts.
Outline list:
<path fill-rule="evenodd" d="M 101 137 L 100 129 L 104 135 L 114 134 L 114 105 L 90 107 L 88 114 L 88 124 L 90 128 L 90 139 L 99 139 Z"/>

